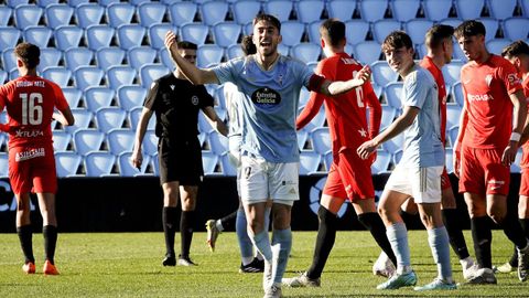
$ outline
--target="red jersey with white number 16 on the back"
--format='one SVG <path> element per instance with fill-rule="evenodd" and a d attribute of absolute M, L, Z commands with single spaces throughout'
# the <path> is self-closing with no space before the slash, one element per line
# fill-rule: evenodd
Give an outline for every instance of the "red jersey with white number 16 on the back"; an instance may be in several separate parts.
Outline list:
<path fill-rule="evenodd" d="M 0 107 L 8 110 L 9 148 L 52 145 L 52 115 L 68 103 L 55 83 L 39 76 L 21 76 L 0 86 Z"/>

